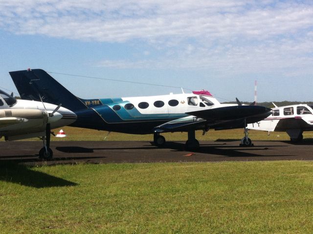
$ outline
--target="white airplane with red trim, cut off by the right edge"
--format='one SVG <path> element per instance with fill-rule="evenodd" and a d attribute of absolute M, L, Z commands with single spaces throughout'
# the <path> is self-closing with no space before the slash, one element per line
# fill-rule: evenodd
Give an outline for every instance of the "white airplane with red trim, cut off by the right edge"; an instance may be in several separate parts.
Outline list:
<path fill-rule="evenodd" d="M 313 106 L 298 104 L 278 107 L 274 103 L 272 114 L 264 120 L 248 124 L 248 129 L 287 132 L 290 140 L 297 142 L 303 140 L 304 131 L 313 131 Z"/>

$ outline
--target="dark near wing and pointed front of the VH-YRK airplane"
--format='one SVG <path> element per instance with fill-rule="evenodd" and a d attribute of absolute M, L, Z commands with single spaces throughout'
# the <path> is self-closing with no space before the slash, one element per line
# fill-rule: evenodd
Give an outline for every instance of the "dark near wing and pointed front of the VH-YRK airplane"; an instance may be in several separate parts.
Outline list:
<path fill-rule="evenodd" d="M 190 116 L 161 124 L 154 132 L 243 128 L 245 120 L 246 124 L 254 123 L 268 117 L 271 112 L 263 106 L 227 106 L 186 114 Z"/>

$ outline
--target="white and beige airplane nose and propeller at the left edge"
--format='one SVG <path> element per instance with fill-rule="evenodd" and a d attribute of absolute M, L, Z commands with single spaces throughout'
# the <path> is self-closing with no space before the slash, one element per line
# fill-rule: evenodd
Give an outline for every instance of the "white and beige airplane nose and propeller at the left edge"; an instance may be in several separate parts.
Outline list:
<path fill-rule="evenodd" d="M 0 90 L 0 138 L 21 140 L 41 137 L 44 147 L 39 157 L 51 159 L 51 129 L 73 123 L 77 116 L 60 105 L 16 99 Z"/>

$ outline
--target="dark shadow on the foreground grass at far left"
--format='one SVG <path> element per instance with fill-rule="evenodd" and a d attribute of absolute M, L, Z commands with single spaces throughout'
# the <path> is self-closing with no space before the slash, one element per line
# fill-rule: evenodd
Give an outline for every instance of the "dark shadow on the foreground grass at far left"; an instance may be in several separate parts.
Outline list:
<path fill-rule="evenodd" d="M 28 187 L 65 187 L 78 184 L 58 178 L 40 171 L 34 171 L 31 167 L 11 161 L 0 162 L 0 180 Z"/>

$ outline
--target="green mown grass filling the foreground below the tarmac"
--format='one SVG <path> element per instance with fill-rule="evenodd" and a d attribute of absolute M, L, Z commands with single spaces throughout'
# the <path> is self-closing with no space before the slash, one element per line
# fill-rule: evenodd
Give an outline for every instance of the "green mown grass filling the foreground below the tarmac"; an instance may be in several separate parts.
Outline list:
<path fill-rule="evenodd" d="M 313 162 L 0 167 L 1 233 L 313 233 Z"/>

